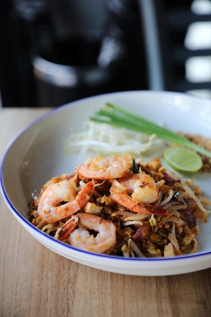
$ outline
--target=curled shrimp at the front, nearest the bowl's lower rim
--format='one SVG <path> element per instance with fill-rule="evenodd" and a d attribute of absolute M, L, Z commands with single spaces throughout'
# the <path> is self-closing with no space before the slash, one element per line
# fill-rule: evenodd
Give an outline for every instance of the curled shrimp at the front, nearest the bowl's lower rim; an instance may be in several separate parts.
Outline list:
<path fill-rule="evenodd" d="M 71 246 L 96 253 L 109 253 L 116 244 L 116 227 L 110 220 L 99 216 L 78 213 L 79 228 L 70 233 Z M 97 235 L 88 230 L 97 231 Z"/>

